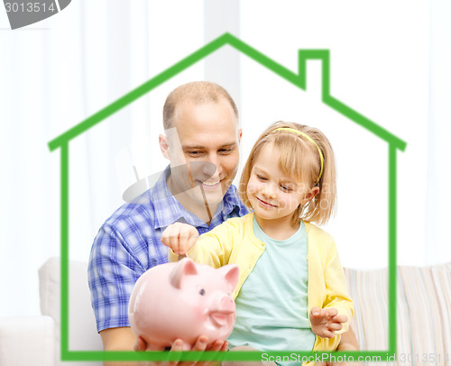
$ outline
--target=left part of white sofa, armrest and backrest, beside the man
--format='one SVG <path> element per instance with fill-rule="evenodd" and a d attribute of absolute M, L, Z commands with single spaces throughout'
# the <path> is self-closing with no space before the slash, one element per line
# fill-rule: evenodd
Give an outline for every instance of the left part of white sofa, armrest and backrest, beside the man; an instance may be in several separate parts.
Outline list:
<path fill-rule="evenodd" d="M 42 316 L 0 318 L 0 366 L 101 366 L 60 361 L 60 258 L 39 270 Z M 30 348 L 31 347 L 31 348 Z M 69 262 L 69 350 L 102 350 L 87 287 L 87 262 Z"/>

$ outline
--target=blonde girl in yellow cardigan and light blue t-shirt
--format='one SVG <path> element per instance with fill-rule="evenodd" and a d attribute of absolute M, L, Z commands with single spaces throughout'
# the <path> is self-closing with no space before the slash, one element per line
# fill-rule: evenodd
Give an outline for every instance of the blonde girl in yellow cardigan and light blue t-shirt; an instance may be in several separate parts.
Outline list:
<path fill-rule="evenodd" d="M 354 315 L 332 237 L 324 224 L 336 205 L 336 168 L 326 136 L 305 125 L 272 124 L 253 146 L 240 184 L 253 210 L 198 237 L 188 224 L 161 236 L 170 261 L 185 254 L 221 267 L 236 263 L 232 347 L 332 351 Z"/>

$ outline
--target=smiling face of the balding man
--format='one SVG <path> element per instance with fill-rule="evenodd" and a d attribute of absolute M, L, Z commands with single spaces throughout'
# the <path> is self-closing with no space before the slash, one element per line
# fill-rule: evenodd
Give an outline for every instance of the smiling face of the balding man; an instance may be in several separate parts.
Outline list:
<path fill-rule="evenodd" d="M 239 161 L 241 130 L 232 106 L 223 98 L 201 105 L 184 102 L 173 120 L 175 129 L 167 132 L 171 190 L 187 192 L 196 205 L 219 204 Z"/>

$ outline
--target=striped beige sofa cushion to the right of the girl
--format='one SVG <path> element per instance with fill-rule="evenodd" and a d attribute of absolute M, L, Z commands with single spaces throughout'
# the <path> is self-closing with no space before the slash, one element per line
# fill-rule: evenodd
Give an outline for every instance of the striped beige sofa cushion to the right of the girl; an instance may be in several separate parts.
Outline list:
<path fill-rule="evenodd" d="M 387 270 L 346 269 L 345 274 L 354 299 L 353 329 L 362 350 L 386 351 Z M 421 363 L 422 358 L 426 361 L 421 364 L 444 364 L 451 355 L 451 263 L 400 266 L 397 277 L 398 364 Z"/>

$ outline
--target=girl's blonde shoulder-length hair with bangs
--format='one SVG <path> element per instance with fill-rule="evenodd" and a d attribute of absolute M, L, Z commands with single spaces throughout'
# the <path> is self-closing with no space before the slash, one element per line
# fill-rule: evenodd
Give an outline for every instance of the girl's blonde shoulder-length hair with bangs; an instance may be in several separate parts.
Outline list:
<path fill-rule="evenodd" d="M 279 128 L 290 128 L 307 134 L 313 142 L 304 136 L 287 130 L 275 131 Z M 289 122 L 276 122 L 268 127 L 253 145 L 247 159 L 240 181 L 239 195 L 248 208 L 252 208 L 247 197 L 247 184 L 251 177 L 253 164 L 262 147 L 272 142 L 279 151 L 279 168 L 288 177 L 301 182 L 307 191 L 318 186 L 318 195 L 304 206 L 294 211 L 291 224 L 299 224 L 300 220 L 325 224 L 335 214 L 336 209 L 336 160 L 334 151 L 327 137 L 317 128 Z M 323 155 L 323 172 L 318 148 Z M 318 180 L 319 178 L 319 180 Z"/>

